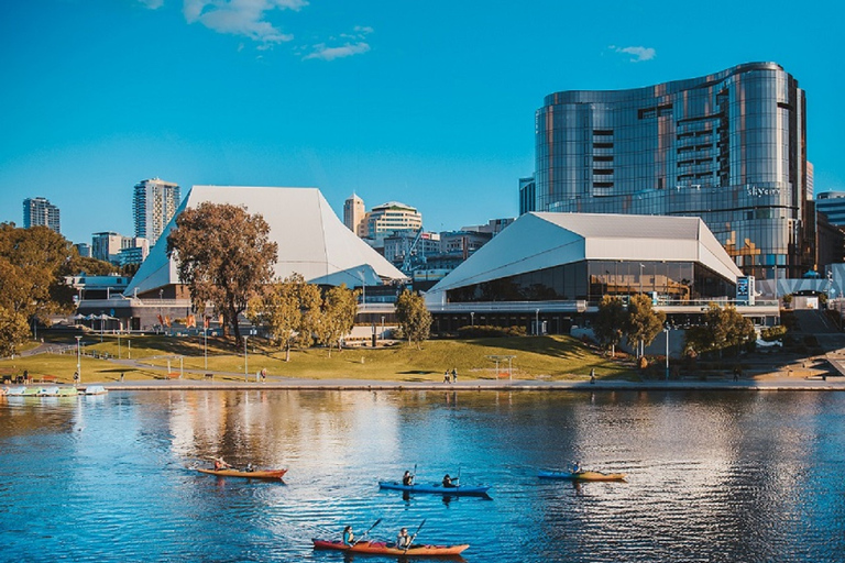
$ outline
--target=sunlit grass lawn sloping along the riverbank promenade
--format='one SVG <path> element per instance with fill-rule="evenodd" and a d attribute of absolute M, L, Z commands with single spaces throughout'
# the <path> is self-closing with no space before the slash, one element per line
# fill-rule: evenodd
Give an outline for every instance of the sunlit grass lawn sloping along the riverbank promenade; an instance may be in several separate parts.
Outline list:
<path fill-rule="evenodd" d="M 75 344 L 75 340 L 72 339 Z M 265 341 L 250 340 L 248 373 L 254 377 L 256 371 L 266 368 L 270 376 L 299 377 L 312 379 L 351 378 L 399 382 L 436 382 L 443 378 L 443 372 L 458 369 L 458 379 L 496 378 L 492 355 L 513 355 L 513 377 L 519 379 L 585 379 L 591 368 L 597 378 L 629 379 L 634 376 L 630 366 L 612 362 L 595 354 L 580 341 L 570 336 L 517 336 L 473 340 L 432 340 L 422 344 L 421 350 L 407 343 L 388 347 L 352 347 L 341 352 L 333 350 L 331 356 L 326 349 L 293 351 L 290 362 L 285 362 L 284 351 L 270 347 Z M 70 342 L 68 342 L 70 343 Z M 86 353 L 108 354 L 114 358 L 142 361 L 158 367 L 166 367 L 169 360 L 172 373 L 179 372 L 179 360 L 184 369 L 205 372 L 204 342 L 201 338 L 132 336 L 131 344 L 125 336 L 86 335 L 83 340 Z M 39 354 L 29 357 L 0 361 L 0 373 L 22 373 L 39 377 L 41 374 L 55 375 L 61 382 L 70 383 L 76 371 L 76 354 Z M 244 373 L 242 349 L 233 347 L 222 339 L 208 339 L 208 372 L 218 374 L 218 379 L 241 379 Z M 83 383 L 118 380 L 123 373 L 128 380 L 162 377 L 163 371 L 144 366 L 125 366 L 107 360 L 84 356 L 81 360 Z M 498 376 L 507 377 L 507 363 L 500 364 Z M 201 378 L 202 374 L 186 374 L 186 378 Z"/>

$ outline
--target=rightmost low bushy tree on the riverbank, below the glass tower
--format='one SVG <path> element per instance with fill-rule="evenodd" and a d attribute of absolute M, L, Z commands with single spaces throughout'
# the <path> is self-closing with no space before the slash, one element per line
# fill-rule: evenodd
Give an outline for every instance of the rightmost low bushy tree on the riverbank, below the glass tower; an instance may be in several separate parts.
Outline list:
<path fill-rule="evenodd" d="M 733 306 L 724 309 L 716 303 L 710 303 L 702 323 L 687 331 L 684 349 L 703 354 L 718 352 L 720 357 L 726 349 L 739 349 L 757 340 L 754 323 L 746 319 Z"/>

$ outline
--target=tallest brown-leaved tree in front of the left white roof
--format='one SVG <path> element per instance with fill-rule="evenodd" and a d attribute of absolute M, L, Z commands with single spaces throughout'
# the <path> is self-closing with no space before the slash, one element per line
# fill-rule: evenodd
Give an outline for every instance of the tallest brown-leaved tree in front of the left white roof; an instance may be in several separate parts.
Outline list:
<path fill-rule="evenodd" d="M 278 245 L 270 225 L 246 208 L 205 201 L 176 218 L 167 255 L 178 261 L 179 280 L 188 286 L 199 312 L 211 303 L 241 340 L 238 316 L 273 277 Z"/>

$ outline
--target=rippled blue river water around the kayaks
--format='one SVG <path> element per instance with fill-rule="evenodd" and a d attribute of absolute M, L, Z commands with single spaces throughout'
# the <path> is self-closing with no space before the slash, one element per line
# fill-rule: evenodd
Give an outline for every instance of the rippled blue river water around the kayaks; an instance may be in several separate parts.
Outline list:
<path fill-rule="evenodd" d="M 289 471 L 187 468 L 212 455 Z M 537 478 L 573 460 L 628 481 Z M 378 490 L 415 466 L 492 498 Z M 0 561 L 344 562 L 310 539 L 378 518 L 470 562 L 845 561 L 845 393 L 0 398 Z"/>

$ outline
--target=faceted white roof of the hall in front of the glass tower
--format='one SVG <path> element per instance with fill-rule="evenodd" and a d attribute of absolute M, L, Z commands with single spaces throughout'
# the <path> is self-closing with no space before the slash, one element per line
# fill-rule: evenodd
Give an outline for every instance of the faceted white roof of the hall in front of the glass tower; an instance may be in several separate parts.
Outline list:
<path fill-rule="evenodd" d="M 531 212 L 454 268 L 426 294 L 446 291 L 582 260 L 700 262 L 727 279 L 742 271 L 698 217 Z"/>

